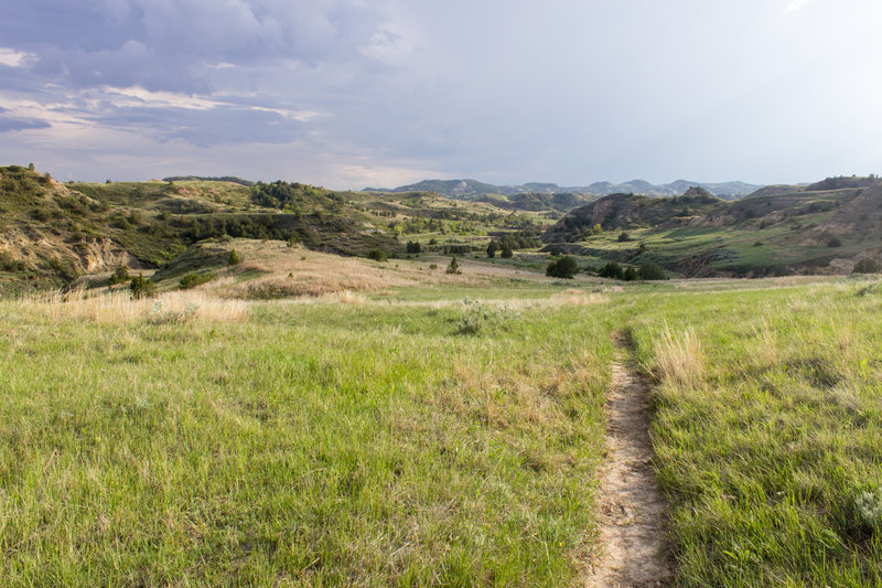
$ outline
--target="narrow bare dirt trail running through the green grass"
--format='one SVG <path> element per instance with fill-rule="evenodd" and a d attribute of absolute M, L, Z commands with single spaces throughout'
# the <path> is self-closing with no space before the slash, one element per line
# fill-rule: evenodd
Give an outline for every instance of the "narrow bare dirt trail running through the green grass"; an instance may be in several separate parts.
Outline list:
<path fill-rule="evenodd" d="M 606 460 L 598 470 L 600 556 L 583 586 L 667 586 L 671 567 L 664 521 L 667 503 L 652 469 L 649 386 L 630 365 L 628 341 L 616 339 L 613 391 L 606 403 Z"/>

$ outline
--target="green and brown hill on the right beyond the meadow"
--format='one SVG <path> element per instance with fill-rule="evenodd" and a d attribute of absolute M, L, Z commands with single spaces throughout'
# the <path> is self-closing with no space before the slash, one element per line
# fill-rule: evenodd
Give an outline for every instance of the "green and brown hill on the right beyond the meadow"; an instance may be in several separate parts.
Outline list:
<path fill-rule="evenodd" d="M 735 202 L 615 194 L 574 209 L 542 239 L 596 264 L 652 260 L 687 277 L 843 274 L 882 260 L 882 183 L 846 180 L 864 188 L 831 179 Z"/>

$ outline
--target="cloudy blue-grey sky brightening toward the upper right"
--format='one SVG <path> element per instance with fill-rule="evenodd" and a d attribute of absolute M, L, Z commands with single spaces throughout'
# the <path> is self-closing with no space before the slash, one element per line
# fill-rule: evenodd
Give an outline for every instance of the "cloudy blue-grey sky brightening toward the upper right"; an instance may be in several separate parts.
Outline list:
<path fill-rule="evenodd" d="M 882 172 L 879 0 L 0 7 L 0 164 L 60 180 Z"/>

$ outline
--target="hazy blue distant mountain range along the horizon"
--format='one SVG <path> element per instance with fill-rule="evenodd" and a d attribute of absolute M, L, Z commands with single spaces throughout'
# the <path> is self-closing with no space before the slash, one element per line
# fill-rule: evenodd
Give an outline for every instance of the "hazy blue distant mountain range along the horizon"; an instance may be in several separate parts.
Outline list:
<path fill-rule="evenodd" d="M 487 194 L 502 194 L 509 196 L 514 194 L 540 193 L 540 194 L 594 194 L 605 196 L 609 194 L 645 194 L 648 196 L 676 196 L 682 194 L 691 186 L 703 188 L 711 194 L 734 200 L 745 196 L 763 188 L 762 185 L 747 184 L 744 182 L 689 182 L 677 180 L 669 184 L 650 184 L 645 180 L 632 180 L 630 182 L 594 182 L 590 185 L 560 186 L 553 183 L 529 182 L 521 185 L 494 185 L 477 180 L 423 180 L 416 184 L 401 185 L 392 189 L 365 188 L 366 192 L 435 192 L 442 196 L 472 200 Z"/>

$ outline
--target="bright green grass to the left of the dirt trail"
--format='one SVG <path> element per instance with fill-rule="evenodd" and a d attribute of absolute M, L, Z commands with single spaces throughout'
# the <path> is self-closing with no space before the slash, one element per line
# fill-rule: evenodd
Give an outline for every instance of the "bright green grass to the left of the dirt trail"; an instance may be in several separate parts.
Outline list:
<path fill-rule="evenodd" d="M 591 535 L 600 307 L 54 323 L 0 304 L 6 586 L 557 586 Z"/>

